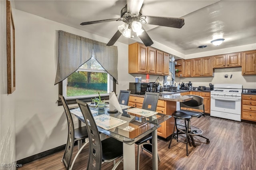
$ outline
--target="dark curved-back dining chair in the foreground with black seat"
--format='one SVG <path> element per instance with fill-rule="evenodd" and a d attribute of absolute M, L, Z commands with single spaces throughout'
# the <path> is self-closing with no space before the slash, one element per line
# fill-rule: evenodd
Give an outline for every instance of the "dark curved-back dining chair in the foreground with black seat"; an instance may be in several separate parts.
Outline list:
<path fill-rule="evenodd" d="M 76 103 L 84 116 L 89 136 L 89 159 L 87 170 L 100 170 L 102 162 L 114 162 L 112 170 L 123 160 L 123 143 L 108 137 L 100 140 L 100 134 L 87 103 L 76 99 Z M 115 160 L 118 159 L 116 163 Z"/>

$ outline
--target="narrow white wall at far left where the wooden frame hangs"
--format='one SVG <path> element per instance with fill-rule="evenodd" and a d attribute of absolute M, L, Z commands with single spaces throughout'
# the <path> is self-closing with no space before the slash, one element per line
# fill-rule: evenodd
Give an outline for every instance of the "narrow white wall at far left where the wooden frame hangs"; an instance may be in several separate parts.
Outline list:
<path fill-rule="evenodd" d="M 6 61 L 6 1 L 0 0 L 0 169 L 2 164 L 16 162 L 15 149 L 15 96 L 7 95 L 7 61 Z M 15 166 L 8 169 L 15 170 Z"/>

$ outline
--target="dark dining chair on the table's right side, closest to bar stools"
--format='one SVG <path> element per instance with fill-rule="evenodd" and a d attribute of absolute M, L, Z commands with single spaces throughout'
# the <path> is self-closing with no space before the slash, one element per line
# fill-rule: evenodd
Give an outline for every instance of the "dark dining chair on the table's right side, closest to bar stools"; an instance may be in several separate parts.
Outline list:
<path fill-rule="evenodd" d="M 158 103 L 159 93 L 152 93 L 146 92 L 145 97 L 142 103 L 142 109 L 146 109 L 149 111 L 156 111 L 157 103 Z M 149 142 L 148 142 L 149 141 Z M 142 150 L 146 150 L 150 154 L 152 154 L 152 133 L 146 135 L 145 137 L 141 138 L 137 142 L 135 142 L 138 146 L 138 154 L 137 154 L 137 170 L 140 168 L 140 146 Z M 158 160 L 160 161 L 160 157 L 158 154 Z"/>

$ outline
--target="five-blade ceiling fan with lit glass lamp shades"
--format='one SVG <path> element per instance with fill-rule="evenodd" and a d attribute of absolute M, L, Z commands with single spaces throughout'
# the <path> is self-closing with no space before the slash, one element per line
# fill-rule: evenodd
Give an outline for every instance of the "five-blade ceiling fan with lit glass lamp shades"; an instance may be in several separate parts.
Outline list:
<path fill-rule="evenodd" d="M 142 24 L 152 24 L 157 26 L 166 26 L 173 28 L 182 28 L 182 26 L 184 25 L 184 18 L 142 15 L 141 7 L 143 1 L 144 0 L 127 0 L 126 6 L 121 10 L 120 18 L 83 22 L 80 25 L 84 26 L 102 22 L 123 21 L 124 23 L 118 26 L 116 34 L 114 34 L 111 40 L 107 43 L 108 46 L 114 45 L 114 43 L 118 40 L 118 38 L 121 35 L 127 38 L 139 36 L 140 40 L 142 40 L 142 42 L 146 46 L 152 45 L 153 41 L 142 27 Z"/>

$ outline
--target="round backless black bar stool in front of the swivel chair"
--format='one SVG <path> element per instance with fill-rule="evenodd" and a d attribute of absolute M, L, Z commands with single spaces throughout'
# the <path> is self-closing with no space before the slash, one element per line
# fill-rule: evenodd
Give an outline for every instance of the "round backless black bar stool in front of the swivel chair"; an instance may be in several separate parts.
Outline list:
<path fill-rule="evenodd" d="M 168 148 L 170 149 L 172 139 L 176 139 L 177 142 L 178 141 L 184 142 L 182 140 L 178 140 L 178 134 L 179 133 L 184 133 L 184 134 L 186 134 L 186 141 L 184 143 L 186 143 L 186 151 L 187 151 L 187 156 L 188 156 L 188 142 L 189 142 L 189 140 L 188 140 L 188 125 L 190 124 L 191 116 L 187 115 L 186 113 L 175 112 L 175 113 L 172 113 L 172 117 L 174 117 L 174 128 L 173 128 L 172 138 L 171 138 L 171 141 L 170 141 L 170 144 L 169 144 Z M 185 125 L 178 125 L 177 124 L 177 119 L 183 119 L 184 122 L 185 122 Z M 188 123 L 186 123 L 186 121 Z M 178 128 L 178 126 L 181 127 L 181 128 Z M 182 128 L 182 127 L 184 127 L 184 128 Z M 176 133 L 174 133 L 175 128 L 176 128 Z M 174 134 L 176 134 L 176 137 L 174 137 Z"/>

